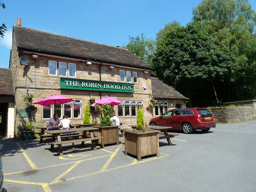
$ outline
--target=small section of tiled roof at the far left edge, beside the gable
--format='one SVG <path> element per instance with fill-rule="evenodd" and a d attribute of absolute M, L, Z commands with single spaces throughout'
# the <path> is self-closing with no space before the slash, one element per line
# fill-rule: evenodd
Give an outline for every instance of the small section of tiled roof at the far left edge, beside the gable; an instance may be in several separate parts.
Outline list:
<path fill-rule="evenodd" d="M 14 97 L 12 70 L 0 68 L 0 97 Z"/>

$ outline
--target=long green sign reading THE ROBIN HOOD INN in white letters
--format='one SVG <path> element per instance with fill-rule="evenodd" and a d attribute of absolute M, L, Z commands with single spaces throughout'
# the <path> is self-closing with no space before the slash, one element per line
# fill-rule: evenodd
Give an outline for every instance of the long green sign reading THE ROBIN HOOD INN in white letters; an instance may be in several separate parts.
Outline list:
<path fill-rule="evenodd" d="M 61 89 L 133 93 L 134 92 L 133 86 L 134 86 L 133 84 L 128 84 L 128 83 L 60 78 Z"/>

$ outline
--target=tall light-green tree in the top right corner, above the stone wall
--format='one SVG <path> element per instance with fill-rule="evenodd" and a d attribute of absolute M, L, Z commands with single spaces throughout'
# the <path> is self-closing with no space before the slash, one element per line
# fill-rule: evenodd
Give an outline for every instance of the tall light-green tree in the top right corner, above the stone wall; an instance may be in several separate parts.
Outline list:
<path fill-rule="evenodd" d="M 235 55 L 234 77 L 227 82 L 226 100 L 256 97 L 256 13 L 248 0 L 203 0 L 193 19 L 213 36 L 214 43 Z"/>

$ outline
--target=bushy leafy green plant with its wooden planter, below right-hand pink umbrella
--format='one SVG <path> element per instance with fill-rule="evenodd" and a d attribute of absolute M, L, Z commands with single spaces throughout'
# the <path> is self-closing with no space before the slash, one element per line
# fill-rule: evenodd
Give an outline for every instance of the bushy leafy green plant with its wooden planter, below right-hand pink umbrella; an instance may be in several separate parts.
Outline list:
<path fill-rule="evenodd" d="M 100 116 L 100 125 L 96 125 L 93 127 L 97 127 L 98 130 L 94 130 L 94 136 L 102 136 L 103 139 L 98 140 L 98 144 L 104 147 L 105 144 L 119 144 L 119 135 L 118 135 L 118 125 L 113 125 L 110 122 L 110 118 L 112 116 L 111 112 L 113 110 L 112 106 L 108 103 L 104 103 L 101 107 L 101 116 Z"/>

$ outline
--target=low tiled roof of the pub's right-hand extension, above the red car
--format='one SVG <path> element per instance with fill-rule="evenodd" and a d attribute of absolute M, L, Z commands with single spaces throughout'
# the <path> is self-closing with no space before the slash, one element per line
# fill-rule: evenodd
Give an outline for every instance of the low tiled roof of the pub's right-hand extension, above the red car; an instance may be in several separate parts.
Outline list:
<path fill-rule="evenodd" d="M 156 77 L 151 77 L 152 96 L 157 100 L 189 100 L 172 86 Z"/>

